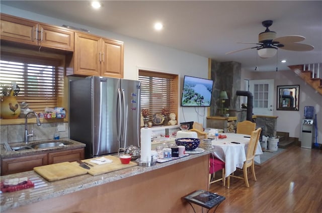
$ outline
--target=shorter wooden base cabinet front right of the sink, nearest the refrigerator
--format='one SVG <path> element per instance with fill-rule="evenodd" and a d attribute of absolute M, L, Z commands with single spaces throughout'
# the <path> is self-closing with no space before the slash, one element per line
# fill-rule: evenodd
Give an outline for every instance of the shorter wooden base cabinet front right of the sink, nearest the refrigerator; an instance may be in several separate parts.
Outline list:
<path fill-rule="evenodd" d="M 60 151 L 60 152 L 50 152 L 48 153 L 48 164 L 83 160 L 84 157 L 85 157 L 84 148 Z"/>

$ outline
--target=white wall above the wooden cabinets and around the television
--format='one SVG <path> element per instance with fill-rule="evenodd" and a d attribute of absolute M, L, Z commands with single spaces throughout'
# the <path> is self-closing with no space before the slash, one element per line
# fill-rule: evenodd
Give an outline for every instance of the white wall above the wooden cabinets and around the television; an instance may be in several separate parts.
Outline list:
<path fill-rule="evenodd" d="M 81 24 L 71 23 L 64 20 L 54 19 L 35 13 L 30 13 L 28 11 L 19 10 L 5 5 L 1 5 L 1 13 L 56 26 L 70 25 L 73 27 L 85 28 L 90 30 L 91 34 L 123 41 L 124 78 L 136 80 L 138 77 L 139 68 L 178 74 L 180 76 L 179 98 L 181 98 L 182 81 L 184 75 L 208 78 L 208 59 L 205 57 L 157 45 L 155 43 L 146 42 L 123 35 L 118 35 L 113 32 L 94 29 L 90 26 L 84 26 Z M 196 111 L 199 111 L 199 115 L 202 116 L 198 116 Z M 206 124 L 206 108 L 180 107 L 178 112 L 179 123 L 197 121 Z"/>

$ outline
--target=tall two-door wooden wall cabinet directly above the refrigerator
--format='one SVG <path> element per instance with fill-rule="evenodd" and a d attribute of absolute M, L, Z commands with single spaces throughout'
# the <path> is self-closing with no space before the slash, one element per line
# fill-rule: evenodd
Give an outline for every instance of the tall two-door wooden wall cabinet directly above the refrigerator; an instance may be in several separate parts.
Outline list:
<path fill-rule="evenodd" d="M 75 32 L 74 54 L 67 59 L 66 75 L 123 78 L 123 55 L 123 42 Z"/>

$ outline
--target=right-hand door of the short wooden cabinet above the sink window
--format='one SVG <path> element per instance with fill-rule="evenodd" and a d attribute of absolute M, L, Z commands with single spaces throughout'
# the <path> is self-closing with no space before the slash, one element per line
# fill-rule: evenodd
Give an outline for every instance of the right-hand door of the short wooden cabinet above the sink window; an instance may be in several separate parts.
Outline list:
<path fill-rule="evenodd" d="M 39 46 L 73 51 L 74 32 L 61 27 L 39 24 Z"/>

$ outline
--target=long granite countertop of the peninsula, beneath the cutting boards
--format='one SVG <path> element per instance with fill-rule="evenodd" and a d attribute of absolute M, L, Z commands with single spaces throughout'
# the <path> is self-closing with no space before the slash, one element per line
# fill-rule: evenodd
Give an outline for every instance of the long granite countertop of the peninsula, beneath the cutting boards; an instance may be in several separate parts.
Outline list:
<path fill-rule="evenodd" d="M 1 211 L 5 211 L 26 204 L 62 196 L 75 191 L 87 189 L 101 184 L 117 181 L 126 177 L 153 171 L 176 163 L 184 162 L 193 158 L 207 155 L 213 151 L 214 149 L 205 150 L 205 152 L 200 154 L 190 154 L 189 156 L 167 161 L 164 163 L 156 163 L 156 165 L 150 167 L 133 166 L 97 176 L 85 174 L 53 182 L 48 182 L 34 171 L 1 176 L 1 180 L 28 177 L 35 184 L 35 187 L 15 192 L 1 193 L 0 209 Z"/>

